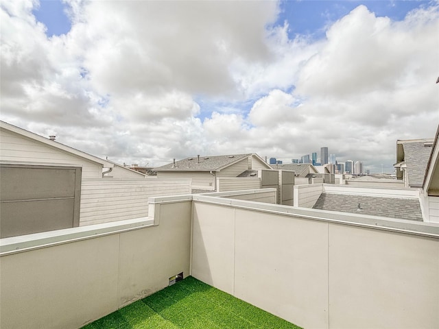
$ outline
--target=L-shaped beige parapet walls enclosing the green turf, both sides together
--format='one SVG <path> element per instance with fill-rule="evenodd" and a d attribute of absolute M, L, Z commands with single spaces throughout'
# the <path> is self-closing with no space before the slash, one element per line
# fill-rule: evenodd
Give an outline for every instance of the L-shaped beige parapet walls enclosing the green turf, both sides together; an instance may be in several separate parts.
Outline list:
<path fill-rule="evenodd" d="M 81 328 L 183 273 L 304 328 L 439 328 L 438 224 L 275 200 L 152 197 L 148 217 L 1 239 L 0 327 Z"/>

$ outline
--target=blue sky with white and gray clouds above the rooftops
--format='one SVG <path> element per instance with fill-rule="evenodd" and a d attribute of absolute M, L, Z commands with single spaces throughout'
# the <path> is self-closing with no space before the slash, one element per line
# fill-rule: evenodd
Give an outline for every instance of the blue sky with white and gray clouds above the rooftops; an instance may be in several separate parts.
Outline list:
<path fill-rule="evenodd" d="M 326 146 L 392 172 L 438 127 L 438 1 L 0 6 L 0 119 L 119 163 Z"/>

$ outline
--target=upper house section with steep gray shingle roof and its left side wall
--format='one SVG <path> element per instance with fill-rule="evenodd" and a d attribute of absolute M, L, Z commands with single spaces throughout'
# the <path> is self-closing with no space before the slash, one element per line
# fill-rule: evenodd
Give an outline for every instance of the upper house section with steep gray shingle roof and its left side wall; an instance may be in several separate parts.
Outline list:
<path fill-rule="evenodd" d="M 396 178 L 405 187 L 423 187 L 433 138 L 396 141 Z"/>

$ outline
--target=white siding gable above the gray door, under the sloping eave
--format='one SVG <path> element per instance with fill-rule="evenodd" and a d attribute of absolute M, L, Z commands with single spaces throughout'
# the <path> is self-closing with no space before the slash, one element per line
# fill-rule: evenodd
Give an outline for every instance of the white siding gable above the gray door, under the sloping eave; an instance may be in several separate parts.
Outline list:
<path fill-rule="evenodd" d="M 54 142 L 56 143 L 56 142 Z M 102 165 L 72 156 L 55 147 L 32 141 L 19 134 L 0 130 L 1 160 L 38 164 L 69 164 L 82 167 L 82 178 L 101 178 Z"/>

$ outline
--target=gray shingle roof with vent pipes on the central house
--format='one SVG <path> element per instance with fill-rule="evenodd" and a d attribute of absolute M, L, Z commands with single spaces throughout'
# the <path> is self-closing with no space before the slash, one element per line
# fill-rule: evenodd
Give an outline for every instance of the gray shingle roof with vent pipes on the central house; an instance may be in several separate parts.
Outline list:
<path fill-rule="evenodd" d="M 185 158 L 174 163 L 165 164 L 157 167 L 155 171 L 219 171 L 230 164 L 234 164 L 239 160 L 248 158 L 251 154 L 233 154 L 228 156 L 200 156 L 198 162 L 197 156 L 193 158 Z"/>

